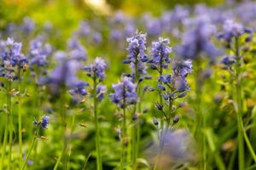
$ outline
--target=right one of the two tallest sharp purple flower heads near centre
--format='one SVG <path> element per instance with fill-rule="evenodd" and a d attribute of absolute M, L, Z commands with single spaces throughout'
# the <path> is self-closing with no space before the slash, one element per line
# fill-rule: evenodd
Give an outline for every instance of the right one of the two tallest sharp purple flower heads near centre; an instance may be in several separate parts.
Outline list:
<path fill-rule="evenodd" d="M 170 43 L 168 38 L 159 37 L 159 41 L 152 42 L 152 56 L 151 63 L 154 65 L 161 65 L 162 68 L 167 68 L 170 63 L 169 54 L 172 53 L 172 48 L 168 46 Z"/>

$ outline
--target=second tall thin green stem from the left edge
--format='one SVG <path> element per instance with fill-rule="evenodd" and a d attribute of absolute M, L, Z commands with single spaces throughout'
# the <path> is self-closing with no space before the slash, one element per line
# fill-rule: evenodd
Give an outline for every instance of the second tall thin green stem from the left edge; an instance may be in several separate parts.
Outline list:
<path fill-rule="evenodd" d="M 18 95 L 18 116 L 19 116 L 19 155 L 20 155 L 20 168 L 22 166 L 22 125 L 21 125 L 21 111 L 20 111 L 20 103 L 21 103 L 21 99 L 20 99 L 20 69 L 18 71 L 18 90 L 19 90 L 19 95 Z"/>

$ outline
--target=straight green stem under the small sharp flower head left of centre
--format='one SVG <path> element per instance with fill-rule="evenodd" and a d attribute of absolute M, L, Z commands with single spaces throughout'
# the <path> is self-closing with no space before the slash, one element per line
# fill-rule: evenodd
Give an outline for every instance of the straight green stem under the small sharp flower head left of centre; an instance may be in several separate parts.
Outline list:
<path fill-rule="evenodd" d="M 96 94 L 96 77 L 93 80 L 93 98 L 94 98 L 94 119 L 95 119 L 95 126 L 96 126 L 96 165 L 97 170 L 102 170 L 102 155 L 101 155 L 101 140 L 100 140 L 100 126 L 98 120 L 98 113 L 97 113 L 97 94 Z"/>

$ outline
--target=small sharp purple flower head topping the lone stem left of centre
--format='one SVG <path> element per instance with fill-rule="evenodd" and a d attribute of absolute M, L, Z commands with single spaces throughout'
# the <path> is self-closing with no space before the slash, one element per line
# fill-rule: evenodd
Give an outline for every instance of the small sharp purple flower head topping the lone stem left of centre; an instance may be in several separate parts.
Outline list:
<path fill-rule="evenodd" d="M 84 66 L 84 70 L 87 71 L 87 74 L 93 79 L 98 78 L 99 81 L 102 81 L 105 78 L 106 68 L 107 64 L 100 57 L 96 57 L 94 62 L 89 66 Z"/>

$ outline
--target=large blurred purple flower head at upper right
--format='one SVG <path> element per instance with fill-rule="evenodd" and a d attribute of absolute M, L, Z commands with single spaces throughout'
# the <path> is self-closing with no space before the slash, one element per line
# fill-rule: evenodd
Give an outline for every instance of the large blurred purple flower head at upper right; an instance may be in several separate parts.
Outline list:
<path fill-rule="evenodd" d="M 207 55 L 214 61 L 219 54 L 218 50 L 210 42 L 215 27 L 206 19 L 195 20 L 183 34 L 183 42 L 177 47 L 176 53 L 183 59 L 197 59 L 201 55 Z"/>

